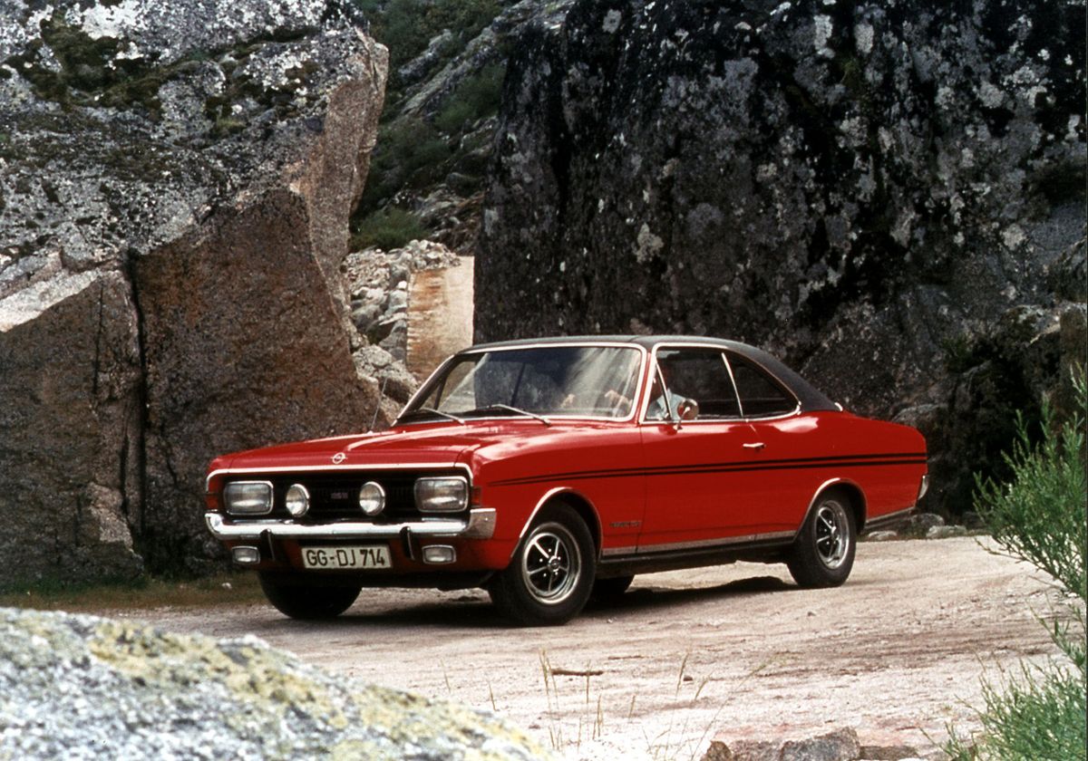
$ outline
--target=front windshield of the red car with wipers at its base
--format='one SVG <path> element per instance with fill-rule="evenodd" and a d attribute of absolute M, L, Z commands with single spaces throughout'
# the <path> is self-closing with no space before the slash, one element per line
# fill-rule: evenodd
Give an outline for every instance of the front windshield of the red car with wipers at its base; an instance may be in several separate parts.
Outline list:
<path fill-rule="evenodd" d="M 480 416 L 627 417 L 641 353 L 628 347 L 548 346 L 457 357 L 401 420 Z"/>

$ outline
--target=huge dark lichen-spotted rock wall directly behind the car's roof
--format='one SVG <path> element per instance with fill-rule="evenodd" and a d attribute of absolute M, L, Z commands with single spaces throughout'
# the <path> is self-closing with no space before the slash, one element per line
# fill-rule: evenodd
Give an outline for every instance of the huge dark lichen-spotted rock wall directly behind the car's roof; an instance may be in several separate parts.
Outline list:
<path fill-rule="evenodd" d="M 574 3 L 508 67 L 477 339 L 764 346 L 919 425 L 930 508 L 968 507 L 1084 353 L 1084 24 L 1060 0 Z"/>

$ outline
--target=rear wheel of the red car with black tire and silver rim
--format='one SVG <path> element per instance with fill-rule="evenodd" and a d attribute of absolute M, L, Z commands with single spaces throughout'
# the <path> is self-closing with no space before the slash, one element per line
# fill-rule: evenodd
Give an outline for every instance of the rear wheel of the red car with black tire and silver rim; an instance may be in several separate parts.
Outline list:
<path fill-rule="evenodd" d="M 842 491 L 821 494 L 790 550 L 790 575 L 805 588 L 837 587 L 850 576 L 856 547 L 850 498 Z"/>

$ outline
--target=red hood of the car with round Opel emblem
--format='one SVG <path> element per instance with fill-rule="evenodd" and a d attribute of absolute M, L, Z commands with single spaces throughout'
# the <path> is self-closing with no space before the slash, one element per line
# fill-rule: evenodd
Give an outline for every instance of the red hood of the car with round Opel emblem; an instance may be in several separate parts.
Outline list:
<path fill-rule="evenodd" d="M 403 465 L 449 466 L 470 451 L 503 442 L 551 438 L 571 424 L 551 427 L 533 420 L 503 420 L 410 425 L 378 433 L 311 439 L 293 444 L 250 449 L 219 458 L 212 470 L 274 470 L 281 467 L 373 467 Z M 584 426 L 576 426 L 584 427 Z"/>

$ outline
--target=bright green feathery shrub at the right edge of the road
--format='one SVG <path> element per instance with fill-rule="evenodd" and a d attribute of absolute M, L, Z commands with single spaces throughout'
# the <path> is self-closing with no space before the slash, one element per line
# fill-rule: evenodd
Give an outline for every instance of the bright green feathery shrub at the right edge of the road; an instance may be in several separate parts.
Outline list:
<path fill-rule="evenodd" d="M 1067 761 L 1086 757 L 1086 569 L 1088 488 L 1085 420 L 1088 388 L 1074 378 L 1077 411 L 1056 425 L 1042 408 L 1042 440 L 1033 445 L 1018 421 L 1017 439 L 1004 457 L 1007 484 L 978 478 L 975 509 L 1000 551 L 1050 574 L 1064 595 L 1070 623 L 1054 623 L 1051 636 L 1067 657 L 1043 668 L 1022 666 L 1016 678 L 984 683 L 982 733 L 973 743 L 954 733 L 945 751 L 957 760 Z"/>

